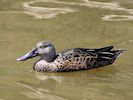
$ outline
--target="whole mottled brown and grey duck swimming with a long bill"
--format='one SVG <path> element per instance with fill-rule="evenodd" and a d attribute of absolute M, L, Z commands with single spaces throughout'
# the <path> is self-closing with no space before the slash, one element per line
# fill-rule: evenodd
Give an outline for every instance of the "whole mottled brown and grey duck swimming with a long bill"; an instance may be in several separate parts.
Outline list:
<path fill-rule="evenodd" d="M 17 59 L 24 61 L 40 56 L 33 69 L 40 72 L 64 72 L 87 70 L 112 64 L 124 50 L 112 50 L 113 46 L 98 49 L 74 48 L 56 53 L 54 45 L 48 41 L 38 42 L 31 51 Z"/>

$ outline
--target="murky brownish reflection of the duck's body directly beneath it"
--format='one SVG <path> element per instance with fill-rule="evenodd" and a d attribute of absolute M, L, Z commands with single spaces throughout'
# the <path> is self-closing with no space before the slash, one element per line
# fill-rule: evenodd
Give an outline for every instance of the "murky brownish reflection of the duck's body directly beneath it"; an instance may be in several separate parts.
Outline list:
<path fill-rule="evenodd" d="M 34 72 L 37 79 L 41 80 L 47 87 L 54 87 L 55 85 L 79 86 L 88 84 L 90 82 L 108 82 L 110 78 L 117 72 L 113 67 L 105 69 L 94 69 L 92 71 L 79 72 L 61 72 L 61 73 L 39 73 Z"/>

